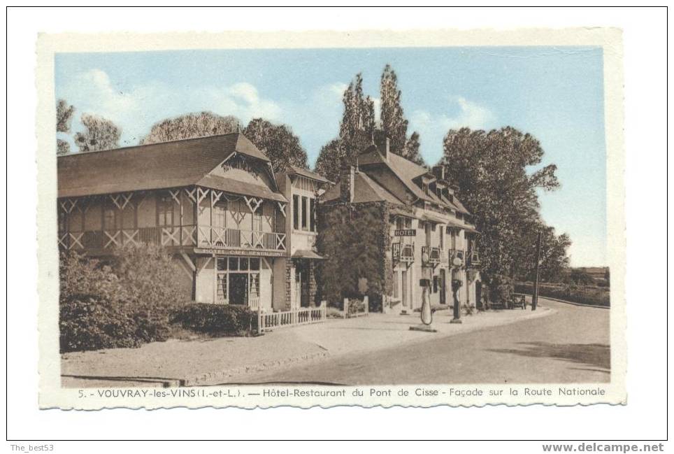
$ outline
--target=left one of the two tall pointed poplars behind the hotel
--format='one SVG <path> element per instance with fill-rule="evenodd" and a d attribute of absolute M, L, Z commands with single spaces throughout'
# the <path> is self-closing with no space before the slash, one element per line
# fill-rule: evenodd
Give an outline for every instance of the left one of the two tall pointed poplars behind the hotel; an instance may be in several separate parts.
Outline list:
<path fill-rule="evenodd" d="M 374 101 L 363 92 L 363 77 L 358 73 L 342 97 L 344 113 L 339 125 L 338 139 L 321 149 L 316 171 L 332 181 L 339 180 L 343 161 L 355 163 L 356 157 L 372 143 L 375 129 Z"/>

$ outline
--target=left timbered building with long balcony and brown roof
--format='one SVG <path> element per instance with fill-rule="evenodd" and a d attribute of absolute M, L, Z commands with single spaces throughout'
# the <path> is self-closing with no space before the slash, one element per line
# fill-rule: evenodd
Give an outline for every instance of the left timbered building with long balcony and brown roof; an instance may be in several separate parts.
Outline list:
<path fill-rule="evenodd" d="M 285 309 L 295 173 L 275 175 L 240 133 L 60 156 L 59 248 L 155 243 L 186 300 Z"/>

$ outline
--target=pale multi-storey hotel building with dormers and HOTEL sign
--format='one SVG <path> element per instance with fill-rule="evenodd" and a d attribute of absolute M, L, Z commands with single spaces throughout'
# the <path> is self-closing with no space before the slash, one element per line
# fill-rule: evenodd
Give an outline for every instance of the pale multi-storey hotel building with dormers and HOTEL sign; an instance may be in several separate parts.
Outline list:
<path fill-rule="evenodd" d="M 428 171 L 389 150 L 378 134 L 373 144 L 345 165 L 340 183 L 322 197 L 331 204 L 386 204 L 390 250 L 382 255 L 391 267 L 390 311 L 410 312 L 422 304 L 422 282 L 431 304 L 452 304 L 452 280 L 461 281 L 461 305 L 480 306 L 478 234 L 471 213 L 454 195 L 442 166 Z M 423 280 L 423 281 L 422 281 Z"/>

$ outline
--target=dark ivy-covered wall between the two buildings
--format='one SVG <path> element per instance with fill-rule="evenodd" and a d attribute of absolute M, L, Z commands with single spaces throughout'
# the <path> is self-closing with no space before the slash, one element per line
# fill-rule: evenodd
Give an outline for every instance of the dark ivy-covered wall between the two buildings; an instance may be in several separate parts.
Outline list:
<path fill-rule="evenodd" d="M 359 281 L 366 278 L 371 310 L 381 310 L 393 281 L 388 204 L 320 204 L 317 222 L 317 250 L 327 258 L 316 270 L 319 299 L 341 307 L 344 298 L 363 296 Z"/>

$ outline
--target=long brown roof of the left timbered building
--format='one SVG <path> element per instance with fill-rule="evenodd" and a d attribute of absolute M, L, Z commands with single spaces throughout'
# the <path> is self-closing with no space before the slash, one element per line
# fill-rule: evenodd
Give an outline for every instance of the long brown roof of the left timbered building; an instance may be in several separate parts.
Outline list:
<path fill-rule="evenodd" d="M 59 156 L 58 197 L 196 185 L 232 152 L 269 162 L 238 132 Z"/>

